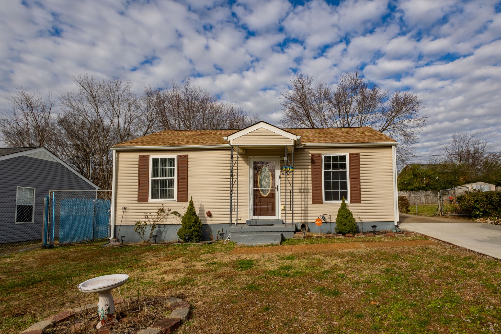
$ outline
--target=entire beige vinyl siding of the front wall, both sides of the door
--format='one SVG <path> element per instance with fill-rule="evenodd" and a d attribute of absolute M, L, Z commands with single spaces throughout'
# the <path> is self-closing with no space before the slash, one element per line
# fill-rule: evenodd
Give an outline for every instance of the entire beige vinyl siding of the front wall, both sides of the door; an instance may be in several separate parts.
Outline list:
<path fill-rule="evenodd" d="M 311 199 L 311 154 L 360 153 L 360 204 L 350 204 L 357 221 L 377 222 L 394 220 L 393 164 L 391 147 L 366 148 L 315 148 L 296 149 L 294 155 L 294 221 L 314 222 L 321 214 L 330 214 L 335 220 L 339 203 L 312 204 Z M 123 224 L 134 224 L 144 219 L 144 213 L 154 213 L 162 202 L 137 202 L 138 156 L 188 155 L 188 199 L 193 196 L 195 210 L 203 223 L 229 223 L 229 150 L 187 150 L 187 151 L 118 151 L 116 169 L 116 224 L 122 221 L 122 207 L 127 207 Z M 239 154 L 238 217 L 239 223 L 249 218 L 249 157 L 284 157 L 284 149 L 245 149 Z M 236 158 L 236 152 L 235 152 Z M 235 173 L 236 176 L 236 173 Z M 285 219 L 285 177 L 280 180 L 281 202 L 277 206 L 280 219 Z M 288 185 L 289 188 L 289 185 Z M 184 213 L 188 203 L 164 201 L 165 208 Z M 212 217 L 205 215 L 206 211 Z M 288 221 L 291 220 L 287 212 Z M 236 214 L 234 214 L 234 218 Z M 180 219 L 172 218 L 167 223 L 178 224 Z"/>

